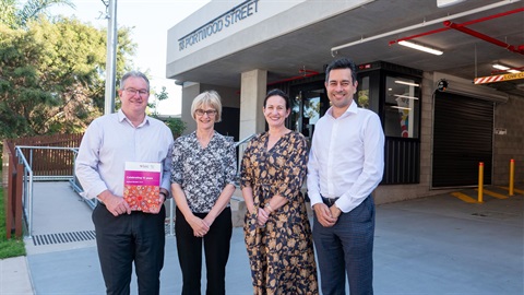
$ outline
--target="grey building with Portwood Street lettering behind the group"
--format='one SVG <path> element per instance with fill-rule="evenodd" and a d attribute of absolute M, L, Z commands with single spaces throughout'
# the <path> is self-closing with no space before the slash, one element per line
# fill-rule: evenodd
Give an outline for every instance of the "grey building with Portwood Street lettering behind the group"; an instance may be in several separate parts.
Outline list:
<path fill-rule="evenodd" d="M 496 60 L 524 78 L 522 52 L 449 24 L 523 44 L 519 2 L 211 1 L 168 31 L 167 78 L 182 85 L 187 132 L 195 128 L 192 99 L 206 90 L 223 98 L 221 133 L 240 141 L 263 132 L 263 98 L 278 87 L 293 98 L 287 127 L 311 138 L 330 106 L 325 67 L 348 57 L 359 67 L 355 102 L 379 115 L 386 137 L 378 203 L 477 186 L 480 163 L 486 185 L 508 184 L 512 158 L 524 181 L 524 80 L 473 83 L 493 75 Z M 403 39 L 444 54 L 404 48 Z"/>

